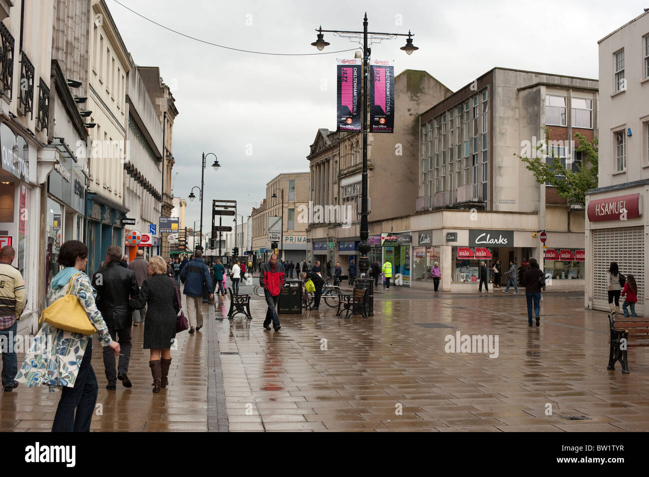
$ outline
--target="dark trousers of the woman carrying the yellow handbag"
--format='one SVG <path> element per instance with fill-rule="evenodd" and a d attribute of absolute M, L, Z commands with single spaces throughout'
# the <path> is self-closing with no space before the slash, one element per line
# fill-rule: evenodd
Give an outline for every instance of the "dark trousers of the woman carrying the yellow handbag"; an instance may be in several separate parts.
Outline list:
<path fill-rule="evenodd" d="M 112 351 L 110 347 L 106 347 Z M 64 387 L 58 401 L 52 432 L 90 432 L 97 402 L 97 376 L 92 369 L 92 339 L 88 340 L 75 387 Z M 77 415 L 75 416 L 75 410 Z"/>

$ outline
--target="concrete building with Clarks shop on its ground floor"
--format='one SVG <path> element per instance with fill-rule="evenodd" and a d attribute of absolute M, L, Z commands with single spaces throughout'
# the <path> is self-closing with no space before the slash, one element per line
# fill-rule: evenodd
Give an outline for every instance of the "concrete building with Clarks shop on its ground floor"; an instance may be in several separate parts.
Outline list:
<path fill-rule="evenodd" d="M 474 291 L 482 260 L 491 270 L 498 258 L 506 271 L 509 260 L 520 267 L 545 256 L 552 289 L 583 289 L 583 208 L 537 183 L 516 154 L 536 153 L 547 127 L 543 151 L 577 167 L 574 134 L 593 139 L 597 99 L 596 80 L 496 67 L 424 112 L 417 213 L 406 231 L 413 282 L 432 285 L 439 262 L 442 290 Z M 537 230 L 546 230 L 545 254 Z"/>

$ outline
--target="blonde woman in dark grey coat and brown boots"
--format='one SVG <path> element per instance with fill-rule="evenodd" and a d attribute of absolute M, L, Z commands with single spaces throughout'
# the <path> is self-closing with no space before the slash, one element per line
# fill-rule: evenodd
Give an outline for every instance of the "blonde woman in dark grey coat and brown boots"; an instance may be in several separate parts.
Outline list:
<path fill-rule="evenodd" d="M 140 297 L 130 299 L 131 308 L 141 310 L 148 304 L 144 323 L 144 349 L 151 350 L 149 367 L 153 375 L 153 392 L 167 387 L 171 365 L 171 343 L 176 337 L 176 316 L 180 310 L 175 282 L 167 276 L 167 263 L 160 256 L 149 260 L 149 278 L 144 280 Z"/>

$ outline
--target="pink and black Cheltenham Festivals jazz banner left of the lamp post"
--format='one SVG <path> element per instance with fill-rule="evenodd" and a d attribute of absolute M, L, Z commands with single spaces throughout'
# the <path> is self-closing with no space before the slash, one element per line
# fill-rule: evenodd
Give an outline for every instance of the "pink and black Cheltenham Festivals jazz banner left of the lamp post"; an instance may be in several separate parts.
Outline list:
<path fill-rule="evenodd" d="M 338 58 L 337 60 L 337 130 L 361 131 L 361 67 L 360 58 Z"/>

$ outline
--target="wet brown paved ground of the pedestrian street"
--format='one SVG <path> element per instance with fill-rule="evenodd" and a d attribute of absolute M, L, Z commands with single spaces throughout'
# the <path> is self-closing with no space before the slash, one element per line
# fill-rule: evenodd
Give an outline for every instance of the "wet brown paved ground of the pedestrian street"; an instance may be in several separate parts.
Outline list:
<path fill-rule="evenodd" d="M 159 395 L 134 328 L 132 389 L 106 391 L 95 348 L 103 415 L 92 429 L 649 430 L 649 349 L 630 350 L 631 374 L 619 363 L 607 371 L 607 317 L 583 310 L 583 296 L 547 293 L 540 328 L 529 328 L 522 293 L 431 295 L 377 293 L 373 319 L 345 320 L 323 303 L 280 315 L 280 332 L 262 328 L 265 304 L 254 295 L 252 320 L 228 320 L 228 300 L 205 306 L 215 319 L 179 335 Z M 497 336 L 498 356 L 448 353 L 445 337 L 458 331 Z M 58 393 L 43 389 L 0 393 L 0 430 L 49 430 L 56 402 Z M 587 419 L 567 419 L 575 416 Z"/>

